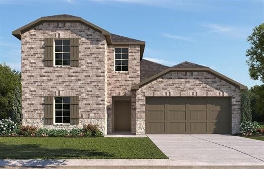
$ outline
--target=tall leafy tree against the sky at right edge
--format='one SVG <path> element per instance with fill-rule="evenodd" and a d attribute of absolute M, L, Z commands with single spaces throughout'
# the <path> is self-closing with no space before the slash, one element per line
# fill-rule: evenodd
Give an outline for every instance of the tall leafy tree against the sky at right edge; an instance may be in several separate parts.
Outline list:
<path fill-rule="evenodd" d="M 247 64 L 250 77 L 264 82 L 264 23 L 253 29 L 247 41 L 251 45 L 246 52 L 246 56 L 249 57 Z"/>

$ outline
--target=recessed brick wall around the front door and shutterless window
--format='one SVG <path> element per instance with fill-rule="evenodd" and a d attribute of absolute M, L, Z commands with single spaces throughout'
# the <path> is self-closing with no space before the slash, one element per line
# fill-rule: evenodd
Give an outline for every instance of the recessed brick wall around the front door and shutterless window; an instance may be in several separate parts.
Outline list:
<path fill-rule="evenodd" d="M 114 71 L 114 46 L 108 46 L 107 58 L 107 133 L 114 130 L 112 96 L 131 96 L 131 87 L 140 82 L 140 46 L 129 46 L 128 72 Z M 135 98 L 135 96 L 134 96 Z M 131 108 L 135 105 L 131 105 Z M 131 112 L 131 130 L 135 133 L 135 113 Z"/>

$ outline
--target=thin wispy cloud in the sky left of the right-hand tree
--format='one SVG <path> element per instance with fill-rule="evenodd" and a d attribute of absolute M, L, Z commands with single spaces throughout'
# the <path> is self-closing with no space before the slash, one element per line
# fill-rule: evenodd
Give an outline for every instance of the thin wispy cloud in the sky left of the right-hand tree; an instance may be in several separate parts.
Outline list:
<path fill-rule="evenodd" d="M 219 25 L 219 24 L 202 24 L 202 27 L 208 29 L 205 32 L 200 32 L 198 34 L 219 34 L 223 36 L 228 36 L 232 38 L 245 38 L 250 35 L 251 28 L 245 27 L 235 27 L 229 25 Z"/>

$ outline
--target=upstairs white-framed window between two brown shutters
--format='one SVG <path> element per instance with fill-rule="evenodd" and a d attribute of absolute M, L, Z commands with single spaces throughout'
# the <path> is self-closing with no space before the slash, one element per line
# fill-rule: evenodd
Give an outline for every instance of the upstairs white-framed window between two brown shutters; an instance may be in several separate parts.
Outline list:
<path fill-rule="evenodd" d="M 55 65 L 70 65 L 69 39 L 55 39 Z"/>

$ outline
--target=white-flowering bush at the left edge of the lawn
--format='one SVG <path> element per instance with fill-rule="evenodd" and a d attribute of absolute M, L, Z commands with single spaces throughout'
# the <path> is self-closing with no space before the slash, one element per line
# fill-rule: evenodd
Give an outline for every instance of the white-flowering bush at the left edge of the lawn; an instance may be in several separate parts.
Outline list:
<path fill-rule="evenodd" d="M 17 124 L 11 118 L 0 120 L 0 135 L 16 135 L 18 131 Z"/>

